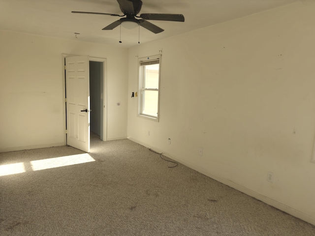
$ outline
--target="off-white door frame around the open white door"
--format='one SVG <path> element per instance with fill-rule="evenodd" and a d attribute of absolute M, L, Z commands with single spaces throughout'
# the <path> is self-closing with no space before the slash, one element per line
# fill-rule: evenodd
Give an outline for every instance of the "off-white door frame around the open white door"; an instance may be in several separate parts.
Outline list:
<path fill-rule="evenodd" d="M 64 131 L 66 130 L 66 106 L 65 106 L 65 69 L 64 69 L 64 61 L 67 57 L 75 57 L 75 56 L 82 56 L 82 55 L 73 55 L 73 54 L 62 54 L 62 79 L 63 79 L 63 127 Z M 103 120 L 101 120 L 101 133 L 103 134 L 101 137 L 102 141 L 107 141 L 107 59 L 106 58 L 97 58 L 97 57 L 90 57 L 89 61 L 98 61 L 103 62 L 103 89 L 101 93 L 103 94 Z M 93 111 L 92 111 L 93 112 Z M 66 132 L 64 132 L 63 136 L 63 143 L 66 145 Z"/>

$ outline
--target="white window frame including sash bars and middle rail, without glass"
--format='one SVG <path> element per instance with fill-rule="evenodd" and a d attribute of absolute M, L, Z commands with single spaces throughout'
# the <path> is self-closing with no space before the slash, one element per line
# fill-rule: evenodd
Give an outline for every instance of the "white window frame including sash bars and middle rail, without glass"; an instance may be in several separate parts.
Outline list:
<path fill-rule="evenodd" d="M 161 56 L 162 55 L 155 55 L 145 58 L 138 59 L 138 81 L 139 81 L 139 89 L 138 89 L 138 117 L 146 118 L 154 121 L 159 120 L 159 99 L 160 99 L 160 79 L 161 79 Z M 144 67 L 143 63 L 150 62 L 150 61 L 157 61 L 158 60 L 158 89 L 152 88 L 144 88 Z M 148 64 L 149 65 L 149 64 Z M 144 96 L 143 91 L 158 91 L 158 114 L 157 116 L 152 116 L 148 114 L 142 113 L 143 111 L 143 103 L 144 103 Z"/>

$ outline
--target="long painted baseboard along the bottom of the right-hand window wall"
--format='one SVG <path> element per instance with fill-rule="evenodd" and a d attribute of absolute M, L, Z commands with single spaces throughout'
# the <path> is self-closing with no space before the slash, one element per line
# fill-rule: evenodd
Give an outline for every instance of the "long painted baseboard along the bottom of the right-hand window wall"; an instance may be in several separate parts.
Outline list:
<path fill-rule="evenodd" d="M 131 137 L 128 137 L 128 139 L 130 141 L 138 143 L 138 144 L 140 144 L 140 145 L 142 145 L 142 146 L 144 146 L 146 148 L 152 148 L 153 150 L 155 150 L 155 151 L 157 151 L 159 153 L 163 153 L 163 155 L 165 155 L 166 157 L 168 157 L 168 158 L 170 158 L 170 159 L 172 159 L 174 161 L 177 161 L 177 162 L 179 162 L 179 163 L 181 163 L 181 164 L 183 164 L 183 165 L 185 165 L 185 166 L 187 166 L 187 167 L 189 167 L 189 168 L 191 168 L 191 169 L 193 169 L 193 170 L 195 170 L 195 171 L 197 171 L 197 172 L 199 172 L 199 173 L 201 173 L 201 174 L 203 174 L 205 176 L 213 178 L 213 179 L 215 179 L 215 180 L 217 180 L 217 181 L 219 181 L 219 182 L 221 182 L 221 183 L 223 183 L 223 184 L 225 184 L 225 185 L 227 185 L 229 187 L 232 187 L 232 188 L 234 188 L 234 189 L 236 189 L 236 190 L 238 190 L 238 191 L 240 191 L 242 193 L 245 193 L 245 194 L 247 194 L 247 195 L 249 195 L 249 196 L 251 196 L 251 197 L 253 197 L 253 198 L 255 198 L 255 199 L 259 200 L 259 201 L 261 201 L 261 202 L 264 202 L 264 203 L 266 203 L 266 204 L 268 204 L 268 205 L 270 205 L 272 207 L 275 207 L 275 208 L 277 208 L 279 210 L 282 210 L 282 211 L 284 211 L 284 212 L 286 212 L 286 213 L 288 213 L 288 214 L 290 214 L 290 215 L 292 215 L 292 216 L 294 216 L 296 218 L 299 218 L 299 219 L 304 220 L 304 221 L 306 221 L 306 222 L 308 222 L 308 223 L 310 223 L 312 225 L 315 225 L 315 217 L 313 217 L 313 216 L 307 215 L 307 214 L 305 214 L 305 213 L 303 213 L 301 211 L 298 211 L 298 210 L 296 210 L 296 209 L 294 209 L 292 207 L 288 207 L 288 206 L 286 206 L 286 205 L 284 205 L 284 204 L 282 204 L 280 202 L 277 202 L 277 201 L 275 201 L 275 200 L 273 200 L 271 198 L 268 198 L 268 197 L 266 197 L 264 195 L 261 195 L 260 193 L 257 193 L 257 192 L 255 192 L 255 191 L 253 191 L 251 189 L 248 189 L 248 188 L 246 188 L 246 187 L 244 187 L 242 185 L 234 183 L 234 182 L 232 182 L 232 181 L 230 181 L 228 179 L 225 179 L 225 178 L 222 178 L 220 176 L 214 175 L 214 174 L 210 173 L 209 171 L 204 170 L 204 169 L 202 169 L 202 168 L 200 168 L 198 166 L 195 166 L 195 165 L 193 165 L 193 164 L 191 164 L 191 163 L 189 163 L 187 161 L 181 160 L 180 158 L 178 158 L 176 156 L 173 156 L 173 155 L 171 155 L 169 153 L 165 153 L 163 150 L 160 150 L 158 148 L 155 148 L 155 147 L 152 147 L 152 146 L 147 145 L 145 143 L 142 143 L 142 142 L 140 142 L 140 141 L 138 141 L 136 139 L 133 139 Z"/>

